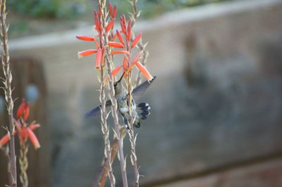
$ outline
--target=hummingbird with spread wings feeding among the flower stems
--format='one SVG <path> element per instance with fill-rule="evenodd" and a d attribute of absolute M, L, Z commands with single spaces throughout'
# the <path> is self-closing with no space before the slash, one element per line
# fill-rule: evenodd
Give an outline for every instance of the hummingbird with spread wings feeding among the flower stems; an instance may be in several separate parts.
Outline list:
<path fill-rule="evenodd" d="M 116 103 L 118 105 L 118 112 L 121 114 L 125 125 L 128 127 L 130 113 L 129 113 L 128 102 L 127 102 L 128 93 L 122 84 L 123 75 L 117 82 L 114 83 L 114 89 L 115 89 Z M 142 120 L 147 119 L 147 116 L 150 115 L 149 110 L 151 109 L 148 103 L 136 104 L 136 102 L 141 98 L 143 93 L 145 93 L 145 91 L 152 84 L 152 82 L 154 82 L 154 79 L 156 79 L 156 76 L 154 76 L 150 82 L 147 82 L 147 81 L 142 82 L 141 84 L 136 86 L 132 91 L 132 101 L 131 101 L 132 115 L 133 115 L 133 120 L 134 120 L 133 124 L 134 124 L 134 127 L 136 128 L 140 128 Z M 90 112 L 87 112 L 87 114 L 85 115 L 85 118 L 100 115 L 101 107 L 102 105 L 98 105 L 97 107 L 90 110 Z M 111 107 L 111 100 L 106 101 L 106 108 L 109 108 L 109 107 Z"/>

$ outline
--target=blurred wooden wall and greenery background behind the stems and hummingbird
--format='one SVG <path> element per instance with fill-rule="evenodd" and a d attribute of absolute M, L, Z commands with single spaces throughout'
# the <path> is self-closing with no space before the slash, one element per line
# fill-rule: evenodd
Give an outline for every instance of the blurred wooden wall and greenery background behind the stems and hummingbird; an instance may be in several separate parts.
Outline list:
<path fill-rule="evenodd" d="M 112 1 L 118 15 L 127 1 Z M 7 1 L 15 91 L 30 101 L 42 147 L 30 146 L 30 186 L 92 186 L 104 143 L 92 35 L 96 1 Z M 149 41 L 157 79 L 142 97 L 151 115 L 137 129 L 141 186 L 282 186 L 282 1 L 143 0 L 135 33 Z M 116 59 L 120 64 L 121 60 Z M 2 73 L 2 72 L 1 72 Z M 6 125 L 4 93 L 1 125 Z M 2 129 L 0 135 L 6 131 Z M 125 155 L 128 150 L 125 138 Z M 7 183 L 0 153 L 0 186 Z M 133 172 L 128 158 L 128 178 Z M 121 186 L 118 162 L 114 174 Z"/>

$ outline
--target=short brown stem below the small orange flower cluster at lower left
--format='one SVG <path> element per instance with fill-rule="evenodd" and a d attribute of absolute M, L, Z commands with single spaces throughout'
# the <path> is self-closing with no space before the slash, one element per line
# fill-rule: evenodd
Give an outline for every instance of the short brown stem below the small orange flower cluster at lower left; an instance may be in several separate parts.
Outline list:
<path fill-rule="evenodd" d="M 27 178 L 27 167 L 28 167 L 28 160 L 27 160 L 27 152 L 28 147 L 25 142 L 20 143 L 20 182 L 22 183 L 23 187 L 28 186 L 28 178 Z"/>

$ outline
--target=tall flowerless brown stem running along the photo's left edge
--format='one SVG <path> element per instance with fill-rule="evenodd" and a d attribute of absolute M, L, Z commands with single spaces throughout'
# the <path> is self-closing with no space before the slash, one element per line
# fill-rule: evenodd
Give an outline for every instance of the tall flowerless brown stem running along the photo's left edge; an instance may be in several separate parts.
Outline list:
<path fill-rule="evenodd" d="M 17 173 L 16 173 L 16 152 L 15 152 L 15 135 L 13 131 L 15 126 L 13 124 L 13 98 L 12 98 L 12 74 L 10 69 L 10 59 L 8 54 L 8 27 L 6 26 L 6 0 L 1 0 L 0 3 L 0 26 L 2 37 L 2 65 L 4 70 L 4 91 L 5 100 L 8 110 L 8 130 L 10 135 L 9 148 L 10 148 L 10 160 L 11 165 L 8 167 L 9 179 L 11 180 L 11 186 L 17 186 Z"/>

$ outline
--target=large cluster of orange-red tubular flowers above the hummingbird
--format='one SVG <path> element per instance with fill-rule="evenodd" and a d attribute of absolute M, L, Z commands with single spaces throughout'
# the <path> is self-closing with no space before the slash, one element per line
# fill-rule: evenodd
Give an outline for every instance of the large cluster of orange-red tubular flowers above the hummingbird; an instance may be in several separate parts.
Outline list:
<path fill-rule="evenodd" d="M 116 6 L 112 8 L 111 4 L 109 4 L 109 14 L 111 15 L 111 20 L 106 25 L 106 34 L 108 37 L 108 45 L 111 46 L 114 49 L 118 49 L 116 51 L 111 51 L 111 56 L 114 56 L 116 54 L 123 54 L 123 63 L 122 65 L 118 65 L 112 70 L 112 75 L 116 76 L 116 74 L 123 70 L 125 72 L 125 77 L 128 75 L 128 73 L 131 72 L 134 66 L 136 66 L 140 72 L 146 77 L 148 81 L 152 80 L 152 75 L 149 73 L 147 68 L 140 63 L 140 56 L 142 55 L 143 51 L 140 51 L 137 53 L 137 55 L 131 60 L 132 51 L 133 48 L 136 46 L 136 44 L 140 41 L 142 37 L 142 33 L 137 34 L 137 36 L 132 39 L 132 20 L 126 21 L 125 15 L 122 15 L 120 18 L 120 25 L 121 30 L 116 30 L 114 32 L 114 23 L 116 21 Z M 94 44 L 96 46 L 96 49 L 87 49 L 85 51 L 78 52 L 78 57 L 82 58 L 84 56 L 90 56 L 94 53 L 96 53 L 96 60 L 95 60 L 95 67 L 97 70 L 100 70 L 102 66 L 104 66 L 104 49 L 101 49 L 101 41 L 100 43 L 97 41 L 96 37 L 102 38 L 103 34 L 105 33 L 102 30 L 101 26 L 101 11 L 95 11 L 94 12 L 94 30 L 96 30 L 98 33 L 95 34 L 93 37 L 88 37 L 84 35 L 77 36 L 78 39 L 83 41 L 94 41 Z"/>

